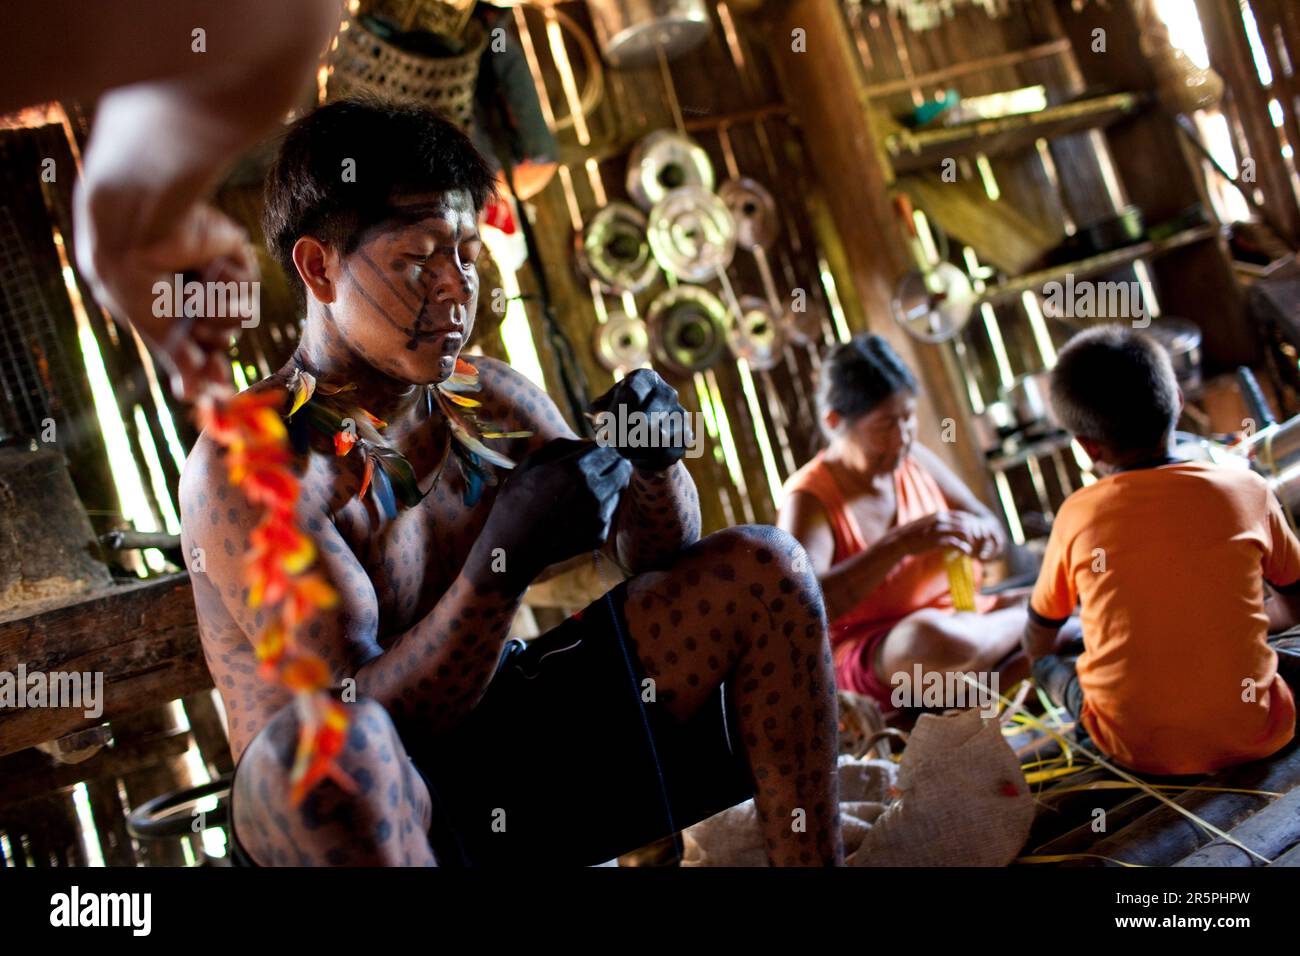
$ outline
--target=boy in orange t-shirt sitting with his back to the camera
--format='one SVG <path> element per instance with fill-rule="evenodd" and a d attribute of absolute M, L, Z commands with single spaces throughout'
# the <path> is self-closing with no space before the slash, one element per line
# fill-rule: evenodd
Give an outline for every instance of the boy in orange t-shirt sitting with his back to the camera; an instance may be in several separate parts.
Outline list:
<path fill-rule="evenodd" d="M 1108 473 L 1052 525 L 1024 635 L 1039 684 L 1134 770 L 1209 773 L 1275 753 L 1296 710 L 1268 636 L 1300 618 L 1300 541 L 1268 484 L 1173 457 L 1182 394 L 1169 355 L 1126 326 L 1070 341 L 1052 405 Z M 1076 605 L 1071 661 L 1053 652 Z"/>

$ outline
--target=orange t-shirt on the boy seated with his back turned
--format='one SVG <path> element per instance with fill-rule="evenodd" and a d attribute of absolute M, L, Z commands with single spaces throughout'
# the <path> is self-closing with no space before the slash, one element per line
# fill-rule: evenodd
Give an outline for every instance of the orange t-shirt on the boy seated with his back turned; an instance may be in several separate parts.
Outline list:
<path fill-rule="evenodd" d="M 1030 607 L 1060 620 L 1082 604 L 1082 719 L 1102 750 L 1139 771 L 1209 773 L 1295 732 L 1264 581 L 1297 579 L 1300 542 L 1264 479 L 1178 462 L 1071 494 Z"/>

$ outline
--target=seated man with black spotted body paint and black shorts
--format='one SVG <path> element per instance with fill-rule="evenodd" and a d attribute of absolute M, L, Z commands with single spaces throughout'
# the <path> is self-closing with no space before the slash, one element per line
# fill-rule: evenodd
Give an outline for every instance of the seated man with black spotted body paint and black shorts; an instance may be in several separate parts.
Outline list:
<path fill-rule="evenodd" d="M 682 444 L 580 441 L 542 390 L 486 358 L 469 359 L 477 411 L 529 433 L 486 444 L 520 464 L 481 493 L 439 467 L 452 436 L 429 395 L 472 332 L 491 190 L 459 129 L 381 101 L 299 120 L 269 174 L 266 241 L 307 315 L 292 359 L 254 388 L 285 390 L 298 369 L 347 385 L 425 496 L 395 515 L 359 498 L 363 462 L 324 440 L 295 463 L 302 527 L 341 594 L 304 639 L 352 711 L 341 766 L 355 783 L 326 780 L 295 808 L 298 721 L 256 675 L 260 622 L 242 593 L 257 514 L 208 437 L 191 454 L 185 553 L 204 554 L 195 602 L 239 761 L 235 857 L 595 864 L 754 796 L 770 862 L 838 864 L 826 614 L 789 535 L 701 537 Z M 593 410 L 685 414 L 649 369 Z M 628 580 L 526 648 L 508 640 L 528 585 L 593 551 Z"/>

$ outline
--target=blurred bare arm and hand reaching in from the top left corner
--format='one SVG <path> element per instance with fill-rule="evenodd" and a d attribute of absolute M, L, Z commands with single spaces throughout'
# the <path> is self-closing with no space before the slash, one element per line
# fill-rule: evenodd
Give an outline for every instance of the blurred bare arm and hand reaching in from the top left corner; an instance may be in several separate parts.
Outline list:
<path fill-rule="evenodd" d="M 248 237 L 204 199 L 300 101 L 342 4 L 43 0 L 5 13 L 0 113 L 99 98 L 73 235 L 96 298 L 136 326 L 182 397 L 229 378 L 220 355 L 239 317 L 172 336 L 153 285 L 257 278 Z"/>

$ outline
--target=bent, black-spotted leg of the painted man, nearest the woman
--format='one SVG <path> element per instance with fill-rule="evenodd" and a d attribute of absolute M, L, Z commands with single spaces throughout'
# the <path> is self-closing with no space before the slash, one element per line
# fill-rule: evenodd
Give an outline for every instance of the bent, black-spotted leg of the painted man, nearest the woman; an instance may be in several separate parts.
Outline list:
<path fill-rule="evenodd" d="M 680 721 L 723 680 L 754 775 L 768 861 L 842 862 L 836 700 L 822 591 L 800 544 L 744 525 L 628 585 L 629 640 Z"/>

